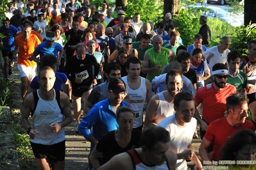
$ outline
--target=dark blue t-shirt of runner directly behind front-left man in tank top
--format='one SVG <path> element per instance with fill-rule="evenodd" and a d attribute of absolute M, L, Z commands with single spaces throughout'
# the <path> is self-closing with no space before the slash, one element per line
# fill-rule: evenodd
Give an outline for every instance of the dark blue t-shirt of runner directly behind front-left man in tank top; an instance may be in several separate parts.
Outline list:
<path fill-rule="evenodd" d="M 56 72 L 55 76 L 56 76 L 56 80 L 55 80 L 55 84 L 53 85 L 53 88 L 57 89 L 58 91 L 61 91 L 62 84 L 65 84 L 65 82 L 67 82 L 67 75 L 65 75 L 65 73 Z M 34 77 L 34 79 L 31 81 L 30 88 L 39 89 L 40 85 L 39 85 L 39 82 L 37 81 L 37 77 L 38 75 Z"/>

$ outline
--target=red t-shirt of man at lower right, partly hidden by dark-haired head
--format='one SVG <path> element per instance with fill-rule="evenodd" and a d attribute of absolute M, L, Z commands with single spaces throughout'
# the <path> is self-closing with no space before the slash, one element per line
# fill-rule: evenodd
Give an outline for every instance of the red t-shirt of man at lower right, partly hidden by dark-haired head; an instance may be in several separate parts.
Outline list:
<path fill-rule="evenodd" d="M 212 151 L 212 157 L 210 160 L 219 160 L 219 151 L 225 144 L 226 140 L 230 138 L 235 132 L 248 128 L 255 132 L 255 127 L 251 121 L 245 120 L 245 122 L 237 127 L 231 126 L 226 118 L 220 118 L 212 121 L 207 128 L 205 139 L 213 143 L 214 150 Z"/>

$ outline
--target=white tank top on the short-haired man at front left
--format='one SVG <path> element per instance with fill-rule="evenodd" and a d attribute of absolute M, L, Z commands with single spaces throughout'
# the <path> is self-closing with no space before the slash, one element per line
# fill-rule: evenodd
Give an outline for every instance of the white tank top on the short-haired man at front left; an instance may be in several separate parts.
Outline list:
<path fill-rule="evenodd" d="M 32 143 L 51 145 L 60 143 L 65 140 L 64 128 L 61 128 L 57 133 L 53 133 L 49 127 L 50 123 L 60 123 L 64 120 L 64 115 L 56 100 L 56 93 L 53 100 L 43 100 L 38 94 L 38 102 L 35 105 L 33 112 L 33 128 L 38 131 L 35 139 L 30 139 Z"/>

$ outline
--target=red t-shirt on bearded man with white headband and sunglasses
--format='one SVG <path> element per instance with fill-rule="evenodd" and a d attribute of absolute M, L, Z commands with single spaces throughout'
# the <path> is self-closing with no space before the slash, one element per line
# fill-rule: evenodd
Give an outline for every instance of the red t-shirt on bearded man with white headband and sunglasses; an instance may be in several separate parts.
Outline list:
<path fill-rule="evenodd" d="M 221 90 L 214 89 L 212 84 L 207 84 L 196 91 L 194 101 L 197 104 L 203 103 L 203 121 L 207 125 L 224 117 L 226 98 L 232 93 L 236 93 L 236 89 L 231 84 L 226 84 L 225 88 Z"/>

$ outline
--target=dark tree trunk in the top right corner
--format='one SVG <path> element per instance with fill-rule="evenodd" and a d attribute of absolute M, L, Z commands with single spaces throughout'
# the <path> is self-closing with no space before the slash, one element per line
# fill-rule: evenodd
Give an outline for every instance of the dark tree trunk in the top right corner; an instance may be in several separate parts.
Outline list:
<path fill-rule="evenodd" d="M 256 23 L 256 1 L 244 0 L 244 26 L 247 26 L 250 21 Z"/>

